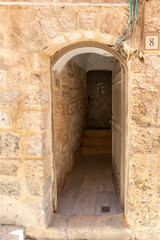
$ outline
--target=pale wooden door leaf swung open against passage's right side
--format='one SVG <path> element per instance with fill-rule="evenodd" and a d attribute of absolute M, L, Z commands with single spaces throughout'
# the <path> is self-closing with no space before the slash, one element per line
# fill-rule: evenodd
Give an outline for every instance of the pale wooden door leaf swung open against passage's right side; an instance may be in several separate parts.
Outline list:
<path fill-rule="evenodd" d="M 112 72 L 112 166 L 121 206 L 124 204 L 124 74 L 118 60 Z M 123 121 L 122 121 L 123 119 Z"/>

